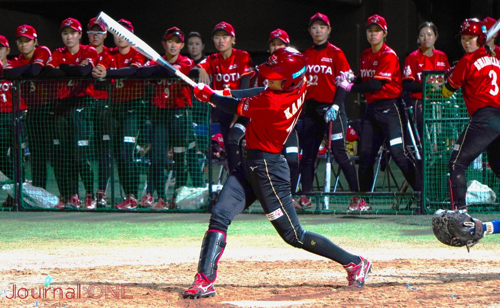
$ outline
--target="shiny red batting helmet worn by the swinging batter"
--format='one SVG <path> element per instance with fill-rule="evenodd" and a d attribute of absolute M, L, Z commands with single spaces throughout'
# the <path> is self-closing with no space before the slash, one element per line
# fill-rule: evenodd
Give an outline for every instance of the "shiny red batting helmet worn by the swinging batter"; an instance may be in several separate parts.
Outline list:
<path fill-rule="evenodd" d="M 283 80 L 281 89 L 291 91 L 302 85 L 305 75 L 305 56 L 292 47 L 274 50 L 267 62 L 257 66 L 258 72 L 269 80 Z"/>

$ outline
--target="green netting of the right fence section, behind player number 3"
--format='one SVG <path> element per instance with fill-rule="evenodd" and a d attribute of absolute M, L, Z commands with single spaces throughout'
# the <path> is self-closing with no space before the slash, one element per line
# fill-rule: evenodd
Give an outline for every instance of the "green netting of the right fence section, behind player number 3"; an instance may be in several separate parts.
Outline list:
<path fill-rule="evenodd" d="M 451 208 L 448 160 L 468 123 L 468 113 L 461 89 L 449 98 L 442 97 L 443 72 L 429 72 L 423 80 L 424 202 L 431 210 Z M 476 180 L 498 193 L 498 178 L 487 165 L 486 152 L 472 162 L 465 174 L 468 182 Z M 492 202 L 490 192 L 472 188 L 467 192 L 469 210 L 498 210 L 498 202 Z"/>

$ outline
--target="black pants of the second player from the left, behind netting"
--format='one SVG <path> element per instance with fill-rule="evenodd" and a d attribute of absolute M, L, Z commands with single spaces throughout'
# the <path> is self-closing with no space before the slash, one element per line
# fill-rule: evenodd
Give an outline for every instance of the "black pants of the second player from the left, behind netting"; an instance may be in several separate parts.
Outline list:
<path fill-rule="evenodd" d="M 48 104 L 30 106 L 25 121 L 32 184 L 44 189 L 47 186 L 47 161 L 52 143 L 50 131 L 53 127 L 50 121 L 50 109 Z"/>

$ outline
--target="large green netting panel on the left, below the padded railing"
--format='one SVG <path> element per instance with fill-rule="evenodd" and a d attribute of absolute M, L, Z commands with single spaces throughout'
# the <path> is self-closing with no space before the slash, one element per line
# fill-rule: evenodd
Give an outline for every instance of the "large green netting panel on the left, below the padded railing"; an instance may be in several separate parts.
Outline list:
<path fill-rule="evenodd" d="M 115 209 L 128 200 L 122 209 L 206 209 L 208 105 L 192 96 L 192 106 L 185 106 L 183 94 L 192 91 L 181 80 L 14 82 L 28 105 L 22 116 L 24 208 L 63 201 L 65 208 L 86 209 L 95 200 L 97 209 Z M 61 89 L 70 97 L 58 98 Z M 81 89 L 85 94 L 73 95 Z"/>

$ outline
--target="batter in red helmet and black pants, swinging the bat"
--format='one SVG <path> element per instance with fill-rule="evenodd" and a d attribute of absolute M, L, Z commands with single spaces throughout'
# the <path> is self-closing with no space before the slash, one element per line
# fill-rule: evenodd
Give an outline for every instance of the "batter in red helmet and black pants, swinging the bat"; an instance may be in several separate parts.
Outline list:
<path fill-rule="evenodd" d="M 213 282 L 217 263 L 226 245 L 227 226 L 256 199 L 267 218 L 290 245 L 327 257 L 347 270 L 349 286 L 362 287 L 371 263 L 332 243 L 326 237 L 306 231 L 298 221 L 290 194 L 288 165 L 281 155 L 284 140 L 293 130 L 305 98 L 305 57 L 297 50 L 276 49 L 267 62 L 257 66 L 268 79 L 266 89 L 243 90 L 243 99 L 220 96 L 205 84 L 194 88 L 196 98 L 210 101 L 226 112 L 251 120 L 245 131 L 246 148 L 241 163 L 231 172 L 212 210 L 203 236 L 197 273 L 184 298 L 215 295 Z M 233 96 L 237 91 L 231 90 Z M 254 95 L 254 96 L 253 96 Z"/>

